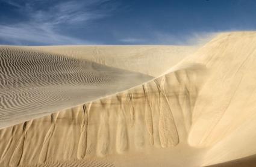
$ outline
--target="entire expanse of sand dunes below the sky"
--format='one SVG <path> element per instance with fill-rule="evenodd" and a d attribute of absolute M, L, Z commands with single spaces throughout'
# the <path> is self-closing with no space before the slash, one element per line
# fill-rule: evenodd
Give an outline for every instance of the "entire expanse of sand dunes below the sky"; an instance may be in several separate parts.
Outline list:
<path fill-rule="evenodd" d="M 255 165 L 256 32 L 0 53 L 0 166 Z"/>

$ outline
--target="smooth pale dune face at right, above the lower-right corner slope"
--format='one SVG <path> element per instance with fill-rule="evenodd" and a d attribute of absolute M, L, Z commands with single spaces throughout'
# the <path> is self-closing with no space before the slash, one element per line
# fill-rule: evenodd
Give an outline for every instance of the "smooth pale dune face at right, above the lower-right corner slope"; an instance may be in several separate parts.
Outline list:
<path fill-rule="evenodd" d="M 195 104 L 189 143 L 205 147 L 222 140 L 254 115 L 256 34 L 220 34 L 195 55 L 198 58 L 191 61 L 205 64 L 211 74 Z"/>

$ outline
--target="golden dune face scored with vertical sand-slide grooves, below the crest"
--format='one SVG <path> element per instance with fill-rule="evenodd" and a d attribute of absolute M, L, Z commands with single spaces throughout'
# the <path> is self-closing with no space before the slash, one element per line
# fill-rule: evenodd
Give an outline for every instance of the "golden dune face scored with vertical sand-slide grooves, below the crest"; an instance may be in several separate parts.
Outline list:
<path fill-rule="evenodd" d="M 169 156 L 164 156 L 167 155 L 164 151 L 186 144 L 198 96 L 197 85 L 202 82 L 204 70 L 198 64 L 187 65 L 106 99 L 8 127 L 0 131 L 0 148 L 4 150 L 0 164 L 58 162 L 61 166 L 72 159 L 87 162 L 107 159 L 109 164 L 120 166 L 125 163 L 125 155 L 155 153 L 159 149 L 166 164 L 175 164 Z M 180 165 L 191 163 L 182 157 L 178 159 Z"/>

